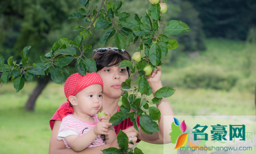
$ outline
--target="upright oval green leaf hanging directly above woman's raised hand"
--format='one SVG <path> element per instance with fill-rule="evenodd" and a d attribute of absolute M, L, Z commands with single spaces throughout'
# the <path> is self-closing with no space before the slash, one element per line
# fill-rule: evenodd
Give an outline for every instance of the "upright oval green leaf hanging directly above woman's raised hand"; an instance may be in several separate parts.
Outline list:
<path fill-rule="evenodd" d="M 157 46 L 157 43 L 152 43 L 150 46 L 150 51 L 149 51 L 149 58 L 150 62 L 154 65 L 157 66 L 158 63 L 161 60 L 161 49 L 159 46 Z"/>

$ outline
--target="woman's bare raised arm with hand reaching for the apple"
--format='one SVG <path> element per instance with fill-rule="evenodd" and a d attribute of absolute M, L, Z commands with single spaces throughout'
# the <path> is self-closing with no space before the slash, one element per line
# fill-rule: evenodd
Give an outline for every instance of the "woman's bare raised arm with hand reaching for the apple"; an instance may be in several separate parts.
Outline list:
<path fill-rule="evenodd" d="M 161 67 L 158 67 L 157 70 L 153 70 L 151 77 L 146 77 L 149 81 L 150 86 L 152 87 L 153 95 L 157 90 L 162 87 L 160 77 Z M 171 138 L 169 134 L 171 133 L 170 129 L 173 118 L 170 118 L 170 116 L 174 117 L 172 107 L 167 98 L 162 98 L 162 100 L 158 104 L 156 104 L 156 107 L 161 112 L 160 119 L 158 120 L 159 131 L 153 133 L 152 135 L 149 135 L 145 134 L 139 127 L 140 133 L 138 133 L 138 139 L 154 144 L 171 143 Z"/>

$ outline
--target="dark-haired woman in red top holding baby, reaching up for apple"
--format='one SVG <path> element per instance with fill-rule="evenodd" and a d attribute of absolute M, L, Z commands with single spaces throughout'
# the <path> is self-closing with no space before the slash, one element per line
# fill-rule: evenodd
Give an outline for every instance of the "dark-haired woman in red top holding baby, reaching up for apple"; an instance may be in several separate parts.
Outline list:
<path fill-rule="evenodd" d="M 118 101 L 120 96 L 124 93 L 121 91 L 121 83 L 130 76 L 128 67 L 118 67 L 118 65 L 122 60 L 131 61 L 131 55 L 126 51 L 118 50 L 117 48 L 99 48 L 94 50 L 94 52 L 97 52 L 94 55 L 97 65 L 97 73 L 102 77 L 104 85 L 102 95 L 103 106 L 100 110 L 107 111 L 111 115 L 114 115 L 119 111 Z M 146 77 L 152 87 L 153 94 L 162 87 L 160 77 L 160 67 L 157 70 L 153 70 L 151 77 Z M 67 105 L 68 102 L 64 102 L 60 108 L 67 107 Z M 163 98 L 156 106 L 161 112 L 161 117 L 158 121 L 159 131 L 157 133 L 153 133 L 152 135 L 145 134 L 140 127 L 140 133 L 138 133 L 130 119 L 126 119 L 119 125 L 114 126 L 116 133 L 122 129 L 131 142 L 143 140 L 153 144 L 171 143 L 169 133 L 172 121 L 168 121 L 167 118 L 164 119 L 164 116 L 174 116 L 171 105 L 167 98 Z M 66 149 L 64 142 L 57 140 L 60 124 L 61 118 L 56 113 L 50 120 L 52 134 L 50 138 L 49 153 L 78 153 L 72 149 Z M 111 144 L 86 148 L 79 153 L 102 153 L 101 150 L 109 147 L 119 148 L 117 140 L 115 139 Z M 133 148 L 133 144 L 129 144 L 129 148 Z"/>

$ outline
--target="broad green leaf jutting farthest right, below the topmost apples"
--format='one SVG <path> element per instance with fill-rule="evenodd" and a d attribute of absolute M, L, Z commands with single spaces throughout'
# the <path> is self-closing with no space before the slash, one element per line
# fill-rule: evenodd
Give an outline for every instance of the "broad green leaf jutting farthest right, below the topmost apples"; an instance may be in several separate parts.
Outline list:
<path fill-rule="evenodd" d="M 166 34 L 178 35 L 178 34 L 188 34 L 190 32 L 189 26 L 179 20 L 171 20 L 168 23 L 166 29 L 164 29 Z"/>

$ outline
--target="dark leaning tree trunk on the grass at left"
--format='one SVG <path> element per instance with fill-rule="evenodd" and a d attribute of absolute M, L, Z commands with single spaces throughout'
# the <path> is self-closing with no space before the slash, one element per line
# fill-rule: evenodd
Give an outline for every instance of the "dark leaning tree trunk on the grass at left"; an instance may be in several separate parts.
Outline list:
<path fill-rule="evenodd" d="M 28 111 L 34 110 L 35 101 L 38 98 L 38 96 L 41 94 L 41 92 L 43 91 L 43 89 L 45 88 L 49 80 L 50 80 L 50 76 L 47 76 L 47 75 L 42 78 L 39 78 L 38 85 L 36 85 L 34 91 L 30 94 L 29 99 L 26 105 L 24 106 L 26 110 Z"/>

